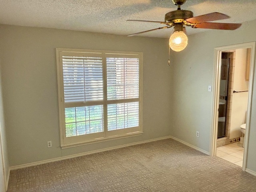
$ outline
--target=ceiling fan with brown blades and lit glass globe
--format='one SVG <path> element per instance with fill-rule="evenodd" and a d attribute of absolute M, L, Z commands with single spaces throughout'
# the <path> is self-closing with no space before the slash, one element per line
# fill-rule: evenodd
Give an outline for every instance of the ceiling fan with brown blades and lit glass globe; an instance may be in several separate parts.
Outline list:
<path fill-rule="evenodd" d="M 178 9 L 165 14 L 164 22 L 162 21 L 147 21 L 147 20 L 127 20 L 127 21 L 141 21 L 141 22 L 156 22 L 165 24 L 166 26 L 155 28 L 147 31 L 142 31 L 128 36 L 150 32 L 158 29 L 167 29 L 174 26 L 174 30 L 170 36 L 169 46 L 174 51 L 182 51 L 188 44 L 188 37 L 185 34 L 185 26 L 191 26 L 192 28 L 204 28 L 204 29 L 222 29 L 222 30 L 235 30 L 242 24 L 240 23 L 213 23 L 211 21 L 228 19 L 229 16 L 213 12 L 200 16 L 193 16 L 193 12 L 189 10 L 181 10 L 180 6 L 186 2 L 186 0 L 172 0 L 172 2 L 178 6 Z"/>

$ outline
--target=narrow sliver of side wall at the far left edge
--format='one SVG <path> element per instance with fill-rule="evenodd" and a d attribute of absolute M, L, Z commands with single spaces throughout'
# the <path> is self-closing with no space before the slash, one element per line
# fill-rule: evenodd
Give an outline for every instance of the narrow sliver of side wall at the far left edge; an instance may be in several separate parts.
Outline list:
<path fill-rule="evenodd" d="M 4 109 L 2 100 L 2 80 L 0 76 L 0 192 L 5 192 L 5 189 L 7 188 L 8 176 L 9 162 L 6 142 L 6 126 L 4 121 Z"/>

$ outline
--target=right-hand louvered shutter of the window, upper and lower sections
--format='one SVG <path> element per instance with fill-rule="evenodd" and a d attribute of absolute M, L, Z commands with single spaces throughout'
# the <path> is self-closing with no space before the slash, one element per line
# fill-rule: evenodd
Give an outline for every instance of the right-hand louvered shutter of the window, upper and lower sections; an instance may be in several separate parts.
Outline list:
<path fill-rule="evenodd" d="M 108 130 L 139 126 L 139 59 L 107 57 L 106 65 L 107 99 L 116 100 L 108 104 Z"/>

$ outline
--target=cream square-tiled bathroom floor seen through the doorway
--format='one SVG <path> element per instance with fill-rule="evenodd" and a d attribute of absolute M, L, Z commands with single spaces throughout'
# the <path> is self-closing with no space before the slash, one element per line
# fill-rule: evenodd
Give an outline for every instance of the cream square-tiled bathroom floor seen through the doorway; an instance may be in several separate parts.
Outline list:
<path fill-rule="evenodd" d="M 216 156 L 242 167 L 244 148 L 240 142 L 232 143 L 217 148 Z"/>

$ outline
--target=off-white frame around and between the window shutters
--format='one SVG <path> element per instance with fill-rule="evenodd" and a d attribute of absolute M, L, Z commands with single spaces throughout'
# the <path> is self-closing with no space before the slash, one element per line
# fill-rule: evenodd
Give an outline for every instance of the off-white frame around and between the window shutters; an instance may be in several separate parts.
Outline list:
<path fill-rule="evenodd" d="M 62 55 L 70 56 L 70 54 L 101 54 L 103 66 L 103 117 L 104 117 L 104 131 L 93 134 L 84 134 L 79 136 L 66 137 L 65 128 L 65 103 L 64 103 L 64 81 L 62 70 Z M 130 99 L 129 102 L 138 101 L 139 103 L 139 126 L 132 128 L 124 128 L 120 130 L 107 130 L 107 105 L 116 103 L 125 103 L 123 100 L 107 100 L 107 81 L 106 81 L 106 56 L 120 58 L 138 58 L 139 59 L 139 97 L 138 99 Z M 142 52 L 120 52 L 120 51 L 102 51 L 102 50 L 81 50 L 81 49 L 66 49 L 56 48 L 56 66 L 57 66 L 57 81 L 58 81 L 58 106 L 59 106 L 59 123 L 60 123 L 60 146 L 62 148 L 70 148 L 73 146 L 81 146 L 94 142 L 102 142 L 106 140 L 113 140 L 125 138 L 130 136 L 137 136 L 143 133 L 142 130 L 142 83 L 143 83 L 143 53 Z"/>

